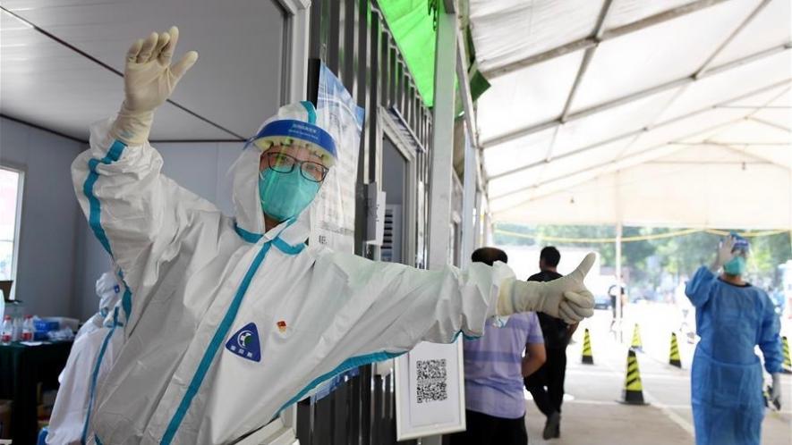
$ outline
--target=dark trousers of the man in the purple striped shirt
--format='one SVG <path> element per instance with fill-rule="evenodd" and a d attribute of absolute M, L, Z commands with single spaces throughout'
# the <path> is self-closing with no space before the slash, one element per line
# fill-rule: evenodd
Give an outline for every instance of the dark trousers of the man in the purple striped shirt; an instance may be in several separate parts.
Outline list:
<path fill-rule="evenodd" d="M 526 445 L 525 416 L 516 419 L 465 410 L 467 430 L 449 436 L 451 445 Z"/>

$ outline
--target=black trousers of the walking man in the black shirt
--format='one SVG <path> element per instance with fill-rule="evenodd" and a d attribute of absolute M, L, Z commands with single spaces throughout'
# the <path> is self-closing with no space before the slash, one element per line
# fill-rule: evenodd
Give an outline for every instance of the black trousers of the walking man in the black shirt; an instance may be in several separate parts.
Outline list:
<path fill-rule="evenodd" d="M 566 348 L 547 348 L 547 361 L 525 378 L 525 389 L 531 392 L 541 414 L 561 412 L 566 377 Z"/>

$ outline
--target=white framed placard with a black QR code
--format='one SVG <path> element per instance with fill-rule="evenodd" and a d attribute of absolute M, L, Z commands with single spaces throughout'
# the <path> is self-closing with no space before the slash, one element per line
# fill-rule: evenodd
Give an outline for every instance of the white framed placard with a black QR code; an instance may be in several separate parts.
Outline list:
<path fill-rule="evenodd" d="M 462 341 L 420 343 L 396 359 L 396 439 L 464 430 Z"/>

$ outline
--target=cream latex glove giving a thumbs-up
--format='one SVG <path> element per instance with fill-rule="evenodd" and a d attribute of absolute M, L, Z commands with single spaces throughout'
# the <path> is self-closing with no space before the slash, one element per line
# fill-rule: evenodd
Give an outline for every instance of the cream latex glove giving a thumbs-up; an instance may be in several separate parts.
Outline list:
<path fill-rule="evenodd" d="M 566 323 L 577 323 L 594 315 L 594 297 L 583 285 L 583 278 L 597 258 L 590 253 L 575 272 L 558 280 L 516 281 L 502 283 L 498 294 L 497 315 L 506 316 L 517 312 L 543 312 Z"/>

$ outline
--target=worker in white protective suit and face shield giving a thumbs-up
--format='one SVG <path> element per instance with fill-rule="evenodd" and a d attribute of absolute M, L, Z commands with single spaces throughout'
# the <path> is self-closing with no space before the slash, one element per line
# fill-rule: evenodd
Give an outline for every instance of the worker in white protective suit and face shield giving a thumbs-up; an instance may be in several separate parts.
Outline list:
<path fill-rule="evenodd" d="M 424 271 L 307 247 L 309 212 L 336 159 L 308 102 L 286 105 L 232 167 L 235 218 L 160 173 L 154 110 L 197 54 L 178 30 L 135 42 L 125 99 L 72 164 L 89 225 L 132 290 L 125 343 L 99 382 L 90 441 L 229 443 L 329 377 L 421 340 L 481 335 L 492 315 L 593 314 L 583 277 L 515 281 L 506 264 Z"/>

